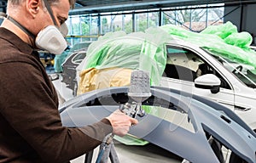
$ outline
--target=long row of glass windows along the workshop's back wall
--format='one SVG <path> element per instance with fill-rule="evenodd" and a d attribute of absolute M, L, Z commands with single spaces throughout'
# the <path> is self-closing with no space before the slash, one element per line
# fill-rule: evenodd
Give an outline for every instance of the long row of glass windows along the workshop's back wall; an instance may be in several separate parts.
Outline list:
<path fill-rule="evenodd" d="M 199 32 L 208 25 L 222 24 L 223 17 L 224 4 L 73 15 L 67 20 L 68 42 L 93 41 L 108 32 L 131 33 L 167 24 Z"/>

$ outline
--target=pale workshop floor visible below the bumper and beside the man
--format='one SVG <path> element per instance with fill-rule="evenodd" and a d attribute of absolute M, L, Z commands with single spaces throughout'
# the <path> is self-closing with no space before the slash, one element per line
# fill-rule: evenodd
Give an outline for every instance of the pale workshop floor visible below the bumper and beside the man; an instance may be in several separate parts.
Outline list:
<path fill-rule="evenodd" d="M 65 83 L 61 82 L 61 75 L 59 79 L 53 81 L 56 90 L 65 100 L 73 98 L 72 90 L 66 87 Z M 182 162 L 182 159 L 171 152 L 161 149 L 154 144 L 148 143 L 144 146 L 130 146 L 122 143 L 114 143 L 115 150 L 121 163 L 144 163 L 144 162 L 160 162 L 160 163 L 177 163 Z M 96 162 L 99 148 L 96 148 L 92 158 L 92 162 Z M 84 163 L 85 156 L 82 155 L 77 159 L 71 160 L 72 163 Z M 108 160 L 108 162 L 111 162 Z"/>

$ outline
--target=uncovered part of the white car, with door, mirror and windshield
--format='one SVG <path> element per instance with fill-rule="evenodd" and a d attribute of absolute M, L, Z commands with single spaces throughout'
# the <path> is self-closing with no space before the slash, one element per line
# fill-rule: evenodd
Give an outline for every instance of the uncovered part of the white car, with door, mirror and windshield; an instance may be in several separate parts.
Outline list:
<path fill-rule="evenodd" d="M 166 69 L 160 86 L 224 104 L 256 131 L 256 71 L 253 65 L 179 40 L 166 43 L 166 51 Z"/>

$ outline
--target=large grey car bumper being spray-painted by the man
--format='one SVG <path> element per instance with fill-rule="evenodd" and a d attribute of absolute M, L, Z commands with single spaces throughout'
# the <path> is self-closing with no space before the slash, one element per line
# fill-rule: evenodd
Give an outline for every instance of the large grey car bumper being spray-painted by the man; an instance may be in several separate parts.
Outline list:
<path fill-rule="evenodd" d="M 129 91 L 129 87 L 108 87 L 68 100 L 60 106 L 63 126 L 90 125 L 124 104 L 131 104 L 129 110 L 134 113 L 132 108 L 137 107 L 132 104 L 137 103 Z M 186 162 L 256 162 L 255 132 L 224 105 L 167 87 L 150 87 L 150 93 L 142 106 L 152 107 L 151 111 L 135 114 L 139 123 L 131 127 L 133 137 L 154 143 Z"/>

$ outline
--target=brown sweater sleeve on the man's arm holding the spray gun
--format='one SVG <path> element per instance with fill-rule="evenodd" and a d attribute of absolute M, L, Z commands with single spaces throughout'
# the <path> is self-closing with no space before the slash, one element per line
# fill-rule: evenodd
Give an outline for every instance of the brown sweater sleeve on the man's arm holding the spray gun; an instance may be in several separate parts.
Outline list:
<path fill-rule="evenodd" d="M 8 72 L 8 73 L 6 73 Z M 0 65 L 0 111 L 10 127 L 45 162 L 66 162 L 96 148 L 113 128 L 107 119 L 90 126 L 62 126 L 55 91 L 27 63 Z"/>

